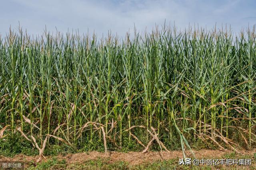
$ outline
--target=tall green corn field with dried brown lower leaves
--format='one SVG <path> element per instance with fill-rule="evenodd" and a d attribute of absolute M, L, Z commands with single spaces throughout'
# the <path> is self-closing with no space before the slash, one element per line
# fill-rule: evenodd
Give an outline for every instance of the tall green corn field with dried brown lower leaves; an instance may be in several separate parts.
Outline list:
<path fill-rule="evenodd" d="M 163 26 L 123 39 L 10 29 L 0 69 L 2 139 L 16 134 L 37 148 L 98 139 L 105 150 L 135 142 L 144 152 L 256 144 L 255 27 Z"/>

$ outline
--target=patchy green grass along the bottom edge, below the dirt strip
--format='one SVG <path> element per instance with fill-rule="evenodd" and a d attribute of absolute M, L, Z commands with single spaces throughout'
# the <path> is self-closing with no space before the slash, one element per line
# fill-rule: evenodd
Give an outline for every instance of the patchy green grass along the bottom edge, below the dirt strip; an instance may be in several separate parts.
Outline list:
<path fill-rule="evenodd" d="M 218 158 L 218 157 L 213 157 Z M 224 158 L 238 158 L 245 159 L 249 158 L 248 155 L 242 156 L 234 154 L 233 156 L 226 155 Z M 252 159 L 254 162 L 255 160 Z M 109 159 L 98 158 L 96 160 L 87 160 L 83 163 L 73 162 L 67 163 L 66 160 L 57 160 L 56 158 L 49 159 L 46 162 L 34 164 L 33 162 L 28 163 L 29 170 L 50 170 L 50 169 L 90 169 L 90 170 L 212 170 L 212 169 L 254 169 L 255 164 L 251 166 L 193 166 L 193 165 L 178 165 L 178 159 L 170 160 L 158 160 L 154 162 L 144 162 L 136 165 L 131 165 L 128 162 L 116 161 L 110 162 Z"/>

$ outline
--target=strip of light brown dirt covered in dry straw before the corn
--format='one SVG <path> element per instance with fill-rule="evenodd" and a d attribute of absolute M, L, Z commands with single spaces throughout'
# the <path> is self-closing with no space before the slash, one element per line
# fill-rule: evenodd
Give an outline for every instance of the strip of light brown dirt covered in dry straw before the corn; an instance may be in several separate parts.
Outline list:
<path fill-rule="evenodd" d="M 220 158 L 227 154 L 230 154 L 234 151 L 232 150 L 194 150 L 195 157 L 200 158 Z M 253 150 L 238 150 L 240 154 L 251 156 L 254 158 L 254 153 L 256 153 L 256 149 Z M 176 158 L 182 158 L 182 151 L 163 151 L 161 152 L 85 152 L 85 153 L 76 153 L 76 154 L 66 154 L 65 156 L 59 155 L 56 156 L 58 159 L 65 159 L 67 163 L 82 163 L 88 160 L 96 160 L 96 159 L 108 159 L 110 163 L 117 161 L 129 162 L 131 165 L 138 165 L 145 162 L 154 162 L 158 160 L 170 160 Z M 186 157 L 193 158 L 190 151 L 186 151 Z M 42 159 L 40 161 L 44 162 L 46 160 L 51 159 L 51 156 L 46 156 L 46 159 Z M 13 158 L 6 158 L 0 155 L 0 161 L 24 161 L 24 162 L 36 162 L 38 160 L 38 156 L 26 156 L 22 154 L 18 154 Z"/>

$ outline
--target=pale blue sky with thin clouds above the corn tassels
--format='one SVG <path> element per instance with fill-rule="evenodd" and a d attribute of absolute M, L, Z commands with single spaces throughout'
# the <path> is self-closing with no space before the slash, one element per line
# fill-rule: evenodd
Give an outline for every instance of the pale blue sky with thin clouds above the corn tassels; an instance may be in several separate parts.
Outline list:
<path fill-rule="evenodd" d="M 18 22 L 30 34 L 48 30 L 125 35 L 134 25 L 142 32 L 166 23 L 184 29 L 188 24 L 212 28 L 231 24 L 234 32 L 256 24 L 256 0 L 4 0 L 0 7 L 0 34 Z"/>

